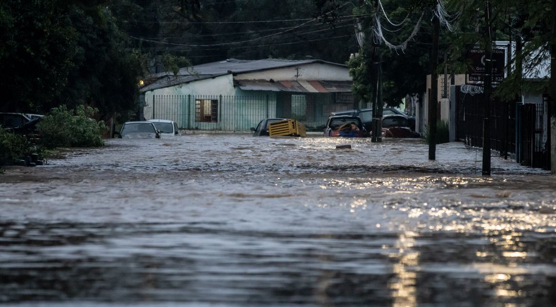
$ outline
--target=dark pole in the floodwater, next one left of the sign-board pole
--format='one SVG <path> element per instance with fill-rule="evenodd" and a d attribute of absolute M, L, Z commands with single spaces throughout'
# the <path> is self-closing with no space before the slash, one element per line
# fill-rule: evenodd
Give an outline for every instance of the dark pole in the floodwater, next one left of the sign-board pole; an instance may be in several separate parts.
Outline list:
<path fill-rule="evenodd" d="M 436 160 L 436 113 L 438 109 L 438 36 L 440 21 L 433 16 L 433 49 L 430 54 L 430 99 L 429 99 L 429 160 Z"/>

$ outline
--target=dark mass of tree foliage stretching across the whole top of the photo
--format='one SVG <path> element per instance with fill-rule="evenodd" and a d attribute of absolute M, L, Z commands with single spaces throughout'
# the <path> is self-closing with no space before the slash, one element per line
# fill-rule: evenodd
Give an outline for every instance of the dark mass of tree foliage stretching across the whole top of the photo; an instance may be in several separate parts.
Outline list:
<path fill-rule="evenodd" d="M 0 3 L 0 105 L 46 112 L 86 104 L 105 116 L 125 113 L 136 110 L 137 84 L 147 74 L 225 58 L 349 63 L 355 94 L 370 100 L 376 14 L 384 99 L 396 105 L 405 94 L 425 90 L 438 3 L 381 0 L 377 9 L 375 1 L 340 0 L 6 0 Z M 485 42 L 486 2 L 442 3 L 453 28 L 441 27 L 439 57 L 446 56 L 450 73 L 463 73 L 465 51 Z M 490 1 L 492 39 L 523 42 L 513 65 L 530 69 L 550 56 L 550 3 Z M 350 54 L 359 57 L 347 62 Z M 521 85 L 514 71 L 498 94 L 513 95 Z M 545 90 L 548 82 L 525 86 Z"/>

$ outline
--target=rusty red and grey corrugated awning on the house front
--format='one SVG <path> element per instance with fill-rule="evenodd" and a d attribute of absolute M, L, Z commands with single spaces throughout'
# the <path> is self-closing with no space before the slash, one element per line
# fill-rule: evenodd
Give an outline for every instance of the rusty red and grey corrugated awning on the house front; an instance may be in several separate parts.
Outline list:
<path fill-rule="evenodd" d="M 344 93 L 351 92 L 351 81 L 289 81 L 235 80 L 234 85 L 243 90 L 269 90 L 271 92 Z"/>

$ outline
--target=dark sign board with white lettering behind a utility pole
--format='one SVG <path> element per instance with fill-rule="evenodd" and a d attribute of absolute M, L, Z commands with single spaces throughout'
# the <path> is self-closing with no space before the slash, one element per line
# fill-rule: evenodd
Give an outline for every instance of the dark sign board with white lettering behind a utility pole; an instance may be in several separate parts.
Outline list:
<path fill-rule="evenodd" d="M 467 58 L 470 60 L 470 67 L 467 71 L 467 84 L 482 84 L 486 72 L 485 49 L 470 49 Z M 504 79 L 504 67 L 506 66 L 506 51 L 504 48 L 494 48 L 492 51 L 492 83 L 500 83 Z"/>

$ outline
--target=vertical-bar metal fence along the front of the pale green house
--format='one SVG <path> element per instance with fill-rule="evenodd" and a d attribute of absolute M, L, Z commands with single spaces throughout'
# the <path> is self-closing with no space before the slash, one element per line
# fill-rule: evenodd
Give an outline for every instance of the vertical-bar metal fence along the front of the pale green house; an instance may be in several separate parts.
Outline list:
<path fill-rule="evenodd" d="M 308 130 L 324 127 L 331 111 L 353 107 L 326 94 L 153 95 L 146 119 L 169 119 L 180 129 L 249 131 L 264 118 L 293 118 Z"/>

